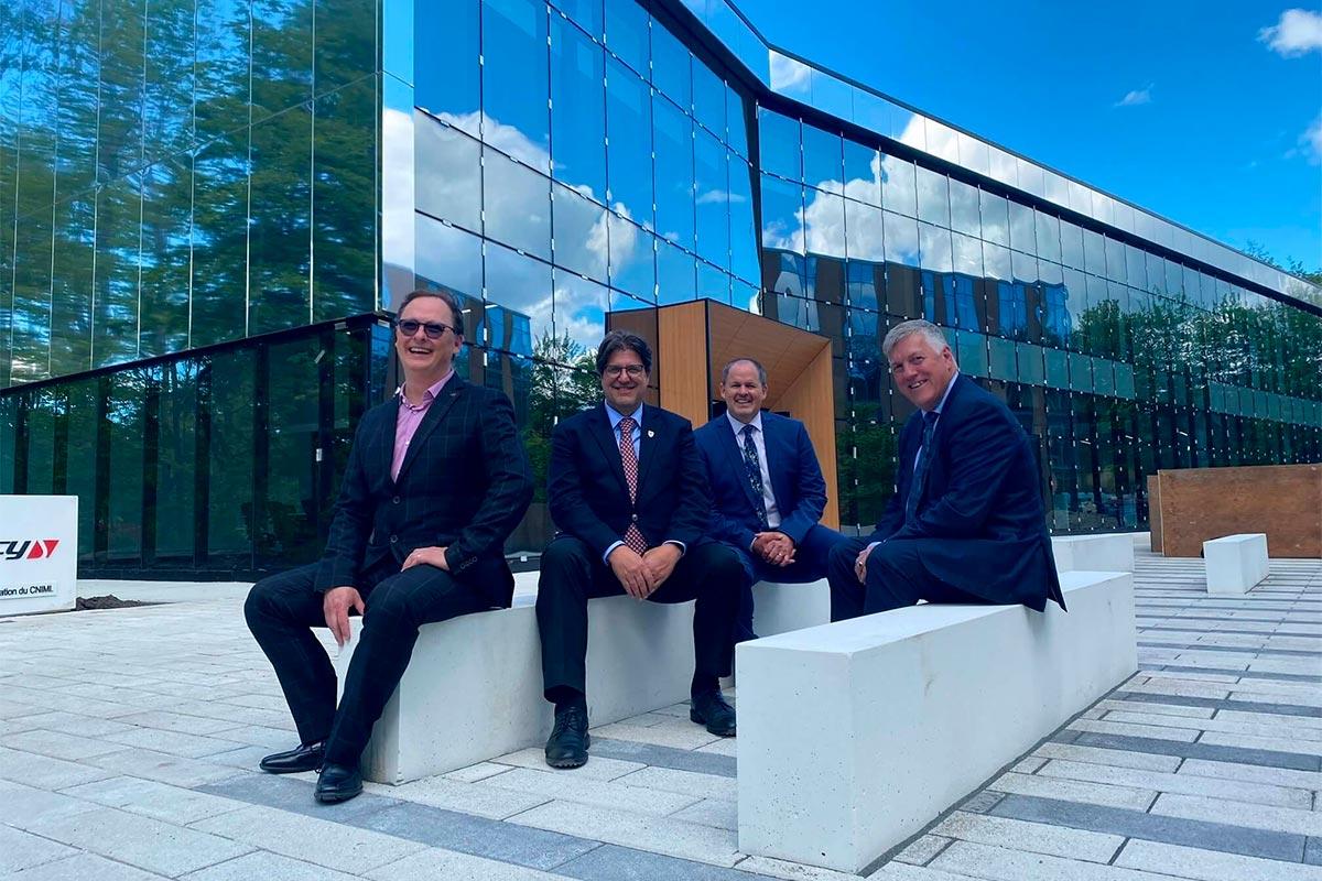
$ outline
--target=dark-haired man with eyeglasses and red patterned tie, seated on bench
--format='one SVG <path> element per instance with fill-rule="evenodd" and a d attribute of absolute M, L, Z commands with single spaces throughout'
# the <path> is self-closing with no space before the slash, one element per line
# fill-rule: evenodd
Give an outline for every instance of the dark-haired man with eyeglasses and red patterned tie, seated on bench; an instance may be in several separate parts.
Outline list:
<path fill-rule="evenodd" d="M 551 767 L 587 762 L 587 613 L 594 597 L 697 600 L 689 717 L 713 734 L 735 733 L 735 711 L 720 696 L 719 678 L 731 670 L 739 561 L 703 536 L 710 501 L 693 428 L 682 416 L 642 403 L 652 351 L 640 337 L 608 333 L 596 370 L 605 402 L 555 427 L 546 478 L 559 528 L 542 553 L 537 586 L 543 695 L 555 704 L 546 741 Z"/>

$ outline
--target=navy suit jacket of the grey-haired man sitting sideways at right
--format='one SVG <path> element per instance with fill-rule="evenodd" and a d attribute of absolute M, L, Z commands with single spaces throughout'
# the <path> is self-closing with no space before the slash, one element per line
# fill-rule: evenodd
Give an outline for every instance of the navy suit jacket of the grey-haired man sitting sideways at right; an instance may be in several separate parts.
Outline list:
<path fill-rule="evenodd" d="M 900 435 L 899 491 L 869 542 L 925 542 L 928 571 L 992 602 L 1040 612 L 1060 597 L 1038 465 L 1027 433 L 1010 409 L 962 374 L 936 423 L 935 450 L 915 523 L 904 524 L 923 413 Z"/>

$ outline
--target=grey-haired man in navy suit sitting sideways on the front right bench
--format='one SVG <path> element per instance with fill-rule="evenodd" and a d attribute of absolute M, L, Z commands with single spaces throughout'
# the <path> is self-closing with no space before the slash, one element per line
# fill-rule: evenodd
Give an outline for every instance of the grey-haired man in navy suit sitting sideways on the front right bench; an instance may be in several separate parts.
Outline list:
<path fill-rule="evenodd" d="M 919 600 L 1063 609 L 1027 433 L 960 375 L 936 325 L 896 325 L 882 353 L 917 412 L 900 435 L 898 493 L 876 530 L 832 551 L 832 621 Z"/>

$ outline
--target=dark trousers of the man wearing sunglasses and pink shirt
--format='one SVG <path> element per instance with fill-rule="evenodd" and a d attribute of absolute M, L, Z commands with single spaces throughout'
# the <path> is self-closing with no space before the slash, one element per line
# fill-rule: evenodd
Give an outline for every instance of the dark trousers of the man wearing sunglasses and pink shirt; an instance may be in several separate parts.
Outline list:
<path fill-rule="evenodd" d="M 371 726 L 394 693 L 418 627 L 481 612 L 489 602 L 448 572 L 390 560 L 369 571 L 358 592 L 366 612 L 336 709 L 336 675 L 309 627 L 324 627 L 324 594 L 313 589 L 316 564 L 262 579 L 243 606 L 249 630 L 275 667 L 304 744 L 327 742 L 325 761 L 357 766 Z M 352 614 L 352 613 L 350 613 Z"/>

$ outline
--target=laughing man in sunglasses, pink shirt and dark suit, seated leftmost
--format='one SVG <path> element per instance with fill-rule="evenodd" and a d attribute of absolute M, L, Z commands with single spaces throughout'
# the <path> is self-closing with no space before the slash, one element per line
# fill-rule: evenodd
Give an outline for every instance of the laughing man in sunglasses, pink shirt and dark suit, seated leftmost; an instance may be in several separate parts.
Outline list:
<path fill-rule="evenodd" d="M 399 306 L 405 382 L 362 416 L 320 563 L 263 579 L 245 606 L 275 667 L 300 745 L 262 759 L 272 774 L 321 770 L 315 798 L 362 791 L 358 759 L 408 664 L 418 627 L 508 608 L 504 542 L 533 495 L 509 399 L 455 374 L 464 318 L 448 291 Z M 311 627 L 341 646 L 362 630 L 336 708 L 336 675 Z"/>

